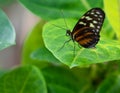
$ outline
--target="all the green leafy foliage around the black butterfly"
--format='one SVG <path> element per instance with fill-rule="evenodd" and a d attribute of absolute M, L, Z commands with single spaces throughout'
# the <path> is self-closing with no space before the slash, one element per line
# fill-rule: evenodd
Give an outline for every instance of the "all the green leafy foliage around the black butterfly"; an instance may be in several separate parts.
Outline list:
<path fill-rule="evenodd" d="M 19 0 L 18 3 L 42 20 L 24 42 L 22 66 L 0 70 L 0 93 L 119 93 L 120 7 L 117 2 L 120 1 Z M 111 5 L 114 8 L 110 10 Z M 76 43 L 74 51 L 72 41 L 61 48 L 69 39 L 65 29 L 72 30 L 80 16 L 92 7 L 100 7 L 106 13 L 96 48 L 85 49 Z M 0 19 L 2 50 L 14 44 L 15 33 L 2 10 Z"/>

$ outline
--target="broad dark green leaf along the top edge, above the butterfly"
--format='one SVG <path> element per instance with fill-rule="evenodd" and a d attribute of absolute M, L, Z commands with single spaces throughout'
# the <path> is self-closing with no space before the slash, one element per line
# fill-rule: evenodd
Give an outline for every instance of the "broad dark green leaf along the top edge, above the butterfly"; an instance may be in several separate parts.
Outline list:
<path fill-rule="evenodd" d="M 27 9 L 45 20 L 63 17 L 79 18 L 81 14 L 92 7 L 103 7 L 102 0 L 19 0 Z M 93 2 L 95 4 L 93 4 Z"/>

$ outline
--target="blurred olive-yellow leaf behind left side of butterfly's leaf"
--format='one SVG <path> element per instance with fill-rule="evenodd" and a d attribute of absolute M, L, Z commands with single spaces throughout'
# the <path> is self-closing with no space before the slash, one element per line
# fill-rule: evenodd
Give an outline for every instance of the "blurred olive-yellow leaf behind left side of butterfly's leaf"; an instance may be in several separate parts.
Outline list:
<path fill-rule="evenodd" d="M 44 24 L 45 22 L 41 20 L 27 36 L 22 51 L 23 64 L 35 63 L 35 60 L 31 58 L 32 52 L 39 47 L 44 47 L 42 40 L 42 28 Z"/>

